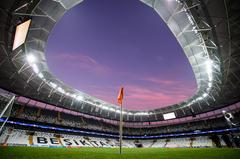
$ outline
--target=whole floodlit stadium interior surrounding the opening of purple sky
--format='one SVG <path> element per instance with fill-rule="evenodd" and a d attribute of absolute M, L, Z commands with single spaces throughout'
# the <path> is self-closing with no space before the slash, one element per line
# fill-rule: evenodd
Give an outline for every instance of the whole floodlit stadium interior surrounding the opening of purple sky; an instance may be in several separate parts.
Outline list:
<path fill-rule="evenodd" d="M 0 2 L 0 158 L 239 158 L 239 1 L 98 0 L 105 10 L 116 3 L 136 3 L 136 8 L 154 12 L 190 64 L 196 91 L 178 103 L 154 108 L 147 105 L 144 110 L 138 105 L 134 110 L 124 107 L 129 99 L 127 87 L 126 93 L 122 89 L 119 97 L 115 95 L 119 106 L 101 98 L 104 93 L 90 95 L 50 71 L 46 54 L 50 36 L 68 12 L 87 6 L 87 1 L 97 2 Z M 144 13 L 139 13 L 139 21 L 149 20 Z M 89 46 L 95 48 L 97 43 Z M 96 61 L 88 61 L 102 71 Z M 180 92 L 184 94 L 185 89 Z"/>

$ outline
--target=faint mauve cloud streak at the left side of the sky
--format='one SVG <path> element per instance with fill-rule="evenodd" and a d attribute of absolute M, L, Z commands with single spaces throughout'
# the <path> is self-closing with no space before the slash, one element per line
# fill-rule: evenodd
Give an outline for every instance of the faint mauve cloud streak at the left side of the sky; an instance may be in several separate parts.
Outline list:
<path fill-rule="evenodd" d="M 108 73 L 111 71 L 106 65 L 103 65 L 97 62 L 94 58 L 80 54 L 80 53 L 60 53 L 54 56 L 49 56 L 52 60 L 58 60 L 58 63 L 70 62 L 72 66 L 77 67 L 78 69 L 90 70 L 95 73 Z"/>

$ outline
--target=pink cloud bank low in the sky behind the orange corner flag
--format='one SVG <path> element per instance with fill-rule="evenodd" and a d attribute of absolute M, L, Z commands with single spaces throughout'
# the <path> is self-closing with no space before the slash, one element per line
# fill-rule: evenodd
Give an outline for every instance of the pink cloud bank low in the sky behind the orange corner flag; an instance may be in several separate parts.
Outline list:
<path fill-rule="evenodd" d="M 117 104 L 118 88 L 115 86 L 92 87 L 91 95 L 107 101 L 112 104 Z M 183 87 L 183 86 L 180 86 Z M 187 90 L 187 91 L 185 91 Z M 172 90 L 170 87 L 167 91 L 154 90 L 149 87 L 144 87 L 137 84 L 127 84 L 124 86 L 124 108 L 130 110 L 150 110 L 162 108 L 172 104 L 182 102 L 189 98 L 194 91 L 187 88 Z"/>

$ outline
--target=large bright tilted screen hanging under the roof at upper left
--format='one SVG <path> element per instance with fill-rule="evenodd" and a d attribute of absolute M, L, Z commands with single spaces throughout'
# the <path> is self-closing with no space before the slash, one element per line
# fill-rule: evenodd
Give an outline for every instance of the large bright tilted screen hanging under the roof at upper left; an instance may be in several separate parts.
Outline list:
<path fill-rule="evenodd" d="M 19 24 L 16 27 L 12 50 L 15 50 L 25 43 L 30 23 L 31 19 Z"/>

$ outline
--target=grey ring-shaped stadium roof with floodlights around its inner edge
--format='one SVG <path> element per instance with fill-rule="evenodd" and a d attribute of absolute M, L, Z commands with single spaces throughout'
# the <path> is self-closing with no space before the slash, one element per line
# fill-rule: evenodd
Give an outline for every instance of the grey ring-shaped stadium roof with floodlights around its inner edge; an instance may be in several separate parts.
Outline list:
<path fill-rule="evenodd" d="M 141 0 L 168 25 L 188 58 L 197 92 L 176 105 L 150 111 L 124 110 L 125 121 L 160 121 L 211 111 L 240 100 L 237 0 Z M 71 88 L 48 69 L 48 36 L 64 13 L 83 0 L 6 0 L 0 11 L 0 87 L 21 96 L 107 119 L 119 107 Z M 13 50 L 16 27 L 31 19 L 26 41 Z M 27 27 L 25 29 L 28 29 Z M 16 33 L 16 34 L 15 34 Z"/>

